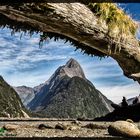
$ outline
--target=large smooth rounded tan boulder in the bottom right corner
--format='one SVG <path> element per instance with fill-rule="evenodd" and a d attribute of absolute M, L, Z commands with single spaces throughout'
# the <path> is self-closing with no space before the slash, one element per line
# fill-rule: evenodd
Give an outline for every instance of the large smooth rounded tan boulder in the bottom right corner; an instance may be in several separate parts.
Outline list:
<path fill-rule="evenodd" d="M 123 136 L 140 138 L 140 130 L 138 127 L 127 121 L 116 121 L 108 127 L 108 132 L 112 136 Z"/>

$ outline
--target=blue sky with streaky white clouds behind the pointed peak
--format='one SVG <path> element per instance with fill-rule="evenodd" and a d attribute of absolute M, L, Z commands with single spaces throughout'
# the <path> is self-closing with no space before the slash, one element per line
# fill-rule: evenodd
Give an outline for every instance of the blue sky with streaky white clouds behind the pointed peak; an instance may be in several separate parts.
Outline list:
<path fill-rule="evenodd" d="M 139 21 L 140 4 L 128 6 L 123 8 Z M 100 60 L 83 55 L 80 51 L 74 51 L 75 48 L 69 43 L 64 44 L 63 40 L 48 40 L 41 49 L 38 43 L 37 34 L 32 37 L 25 35 L 20 39 L 19 33 L 11 36 L 9 29 L 0 29 L 0 75 L 12 86 L 39 85 L 60 65 L 74 58 L 95 87 L 114 102 L 120 102 L 122 96 L 129 98 L 140 93 L 140 86 L 123 76 L 122 70 L 112 58 Z"/>

